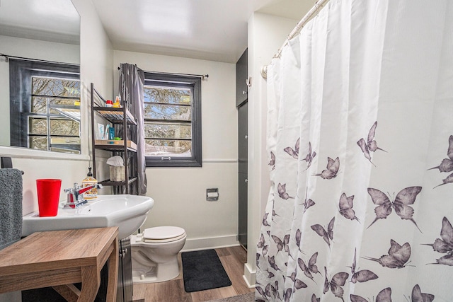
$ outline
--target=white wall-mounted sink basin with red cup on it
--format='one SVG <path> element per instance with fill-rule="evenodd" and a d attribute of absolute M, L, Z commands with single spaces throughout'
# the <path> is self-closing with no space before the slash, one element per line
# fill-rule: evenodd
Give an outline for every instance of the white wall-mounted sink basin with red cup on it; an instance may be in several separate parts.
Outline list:
<path fill-rule="evenodd" d="M 22 236 L 40 231 L 118 226 L 118 238 L 130 236 L 147 220 L 154 206 L 151 197 L 129 194 L 99 195 L 78 209 L 58 209 L 57 216 L 40 217 L 38 211 L 23 216 Z"/>

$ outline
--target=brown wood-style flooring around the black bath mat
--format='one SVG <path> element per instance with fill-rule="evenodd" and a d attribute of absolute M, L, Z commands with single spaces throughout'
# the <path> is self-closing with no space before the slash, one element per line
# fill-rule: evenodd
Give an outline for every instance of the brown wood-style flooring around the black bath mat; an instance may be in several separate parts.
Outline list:
<path fill-rule="evenodd" d="M 248 289 L 243 280 L 243 265 L 247 262 L 247 252 L 241 246 L 231 248 L 216 248 L 217 255 L 231 280 L 231 286 L 206 291 L 186 293 L 184 291 L 181 257 L 178 255 L 180 273 L 176 279 L 148 284 L 134 284 L 134 301 L 144 302 L 204 302 L 247 294 L 254 289 Z"/>

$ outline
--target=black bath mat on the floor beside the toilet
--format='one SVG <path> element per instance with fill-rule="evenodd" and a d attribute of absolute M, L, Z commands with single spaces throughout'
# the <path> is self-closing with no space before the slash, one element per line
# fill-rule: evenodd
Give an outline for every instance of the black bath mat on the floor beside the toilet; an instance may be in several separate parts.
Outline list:
<path fill-rule="evenodd" d="M 215 250 L 197 250 L 181 253 L 186 292 L 205 291 L 230 286 L 231 281 Z"/>

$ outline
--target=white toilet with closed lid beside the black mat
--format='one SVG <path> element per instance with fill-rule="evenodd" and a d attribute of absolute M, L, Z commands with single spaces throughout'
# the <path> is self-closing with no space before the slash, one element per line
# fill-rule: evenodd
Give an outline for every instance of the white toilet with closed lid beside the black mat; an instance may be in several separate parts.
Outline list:
<path fill-rule="evenodd" d="M 153 283 L 178 277 L 178 252 L 185 238 L 184 229 L 177 226 L 157 226 L 132 235 L 132 282 Z"/>

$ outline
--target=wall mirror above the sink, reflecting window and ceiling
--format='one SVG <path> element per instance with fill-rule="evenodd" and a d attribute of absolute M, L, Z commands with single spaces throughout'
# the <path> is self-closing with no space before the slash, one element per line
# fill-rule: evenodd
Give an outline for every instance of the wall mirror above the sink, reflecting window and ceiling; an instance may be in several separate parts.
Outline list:
<path fill-rule="evenodd" d="M 80 116 L 80 102 L 77 97 L 74 98 L 74 95 L 77 95 L 74 93 L 74 88 L 77 87 L 74 81 L 80 83 L 80 76 L 78 74 L 74 76 L 74 71 L 71 70 L 69 73 L 72 75 L 69 78 L 49 81 L 55 87 L 56 84 L 60 85 L 59 88 L 53 89 L 53 92 L 64 93 L 58 95 L 58 100 L 55 95 L 48 95 L 48 93 L 38 96 L 28 95 L 29 107 L 31 103 L 28 115 L 24 117 L 23 112 L 19 112 L 18 115 L 21 115 L 21 118 L 17 119 L 20 120 L 17 122 L 10 113 L 11 108 L 15 106 L 11 104 L 16 101 L 10 100 L 11 95 L 15 98 L 16 90 L 16 86 L 10 87 L 10 81 L 12 81 L 10 65 L 14 61 L 33 62 L 33 64 L 38 62 L 37 65 L 32 64 L 31 69 L 40 71 L 42 71 L 42 64 L 50 64 L 50 62 L 57 66 L 59 63 L 69 64 L 79 69 L 80 16 L 71 0 L 0 0 L 0 146 L 23 146 L 42 150 L 47 145 L 49 151 L 79 153 L 80 148 L 74 145 L 80 145 L 80 127 L 75 130 L 74 128 L 79 124 L 76 120 Z M 47 74 L 41 72 L 38 80 L 28 81 L 30 87 L 25 91 L 30 89 L 35 91 L 33 83 L 42 83 L 51 75 L 58 76 L 59 72 L 55 70 Z M 71 81 L 67 81 L 68 79 Z M 71 83 L 71 86 L 64 83 Z M 23 95 L 23 90 L 18 94 Z M 33 100 L 35 96 L 36 101 Z M 46 102 L 48 109 L 44 114 L 42 107 Z M 34 103 L 36 103 L 35 107 L 40 108 L 41 111 L 34 111 Z M 41 120 L 37 117 L 41 117 Z M 69 122 L 62 122 L 64 120 Z M 34 124 L 39 124 L 40 127 L 33 129 Z M 64 124 L 69 124 L 72 128 L 70 134 L 62 128 Z M 16 137 L 16 133 L 24 132 L 25 139 Z M 74 132 L 79 133 L 75 135 Z M 35 136 L 34 141 L 40 139 L 41 143 L 33 143 L 31 136 Z M 42 143 L 43 138 L 47 143 Z M 16 141 L 22 141 L 22 143 L 18 144 Z M 68 142 L 73 146 L 66 146 Z M 51 147 L 53 143 L 55 143 L 54 148 Z"/>

